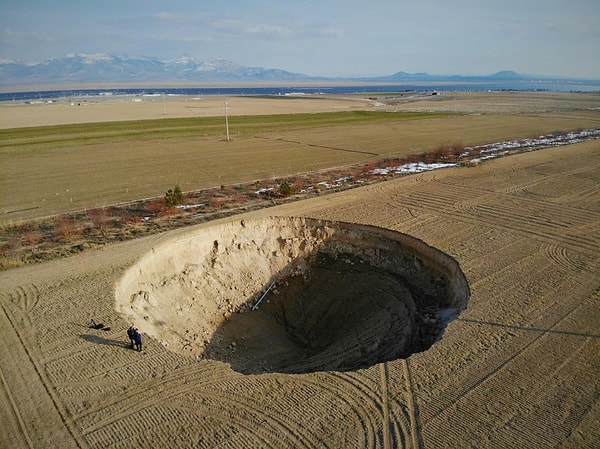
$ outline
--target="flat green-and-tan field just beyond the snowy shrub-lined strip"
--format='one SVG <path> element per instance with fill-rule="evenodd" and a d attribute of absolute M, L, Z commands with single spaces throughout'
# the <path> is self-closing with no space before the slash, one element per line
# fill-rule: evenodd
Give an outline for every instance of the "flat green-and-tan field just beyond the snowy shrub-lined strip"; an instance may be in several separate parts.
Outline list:
<path fill-rule="evenodd" d="M 597 126 L 581 115 L 339 112 L 0 130 L 2 223 L 422 153 Z"/>

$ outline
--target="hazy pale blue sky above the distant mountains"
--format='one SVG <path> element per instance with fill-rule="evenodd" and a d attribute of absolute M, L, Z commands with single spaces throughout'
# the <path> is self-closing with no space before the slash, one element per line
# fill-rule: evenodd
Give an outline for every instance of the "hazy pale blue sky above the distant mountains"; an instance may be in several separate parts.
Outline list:
<path fill-rule="evenodd" d="M 0 58 L 183 54 L 307 75 L 600 78 L 600 0 L 1 0 Z"/>

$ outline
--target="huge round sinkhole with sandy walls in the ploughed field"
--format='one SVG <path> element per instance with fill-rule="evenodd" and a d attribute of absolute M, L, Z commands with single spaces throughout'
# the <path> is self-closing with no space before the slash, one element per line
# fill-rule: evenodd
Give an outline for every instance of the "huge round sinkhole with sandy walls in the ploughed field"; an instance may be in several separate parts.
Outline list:
<path fill-rule="evenodd" d="M 272 217 L 150 249 L 118 311 L 169 350 L 240 373 L 347 371 L 427 350 L 469 298 L 458 263 L 372 226 Z"/>

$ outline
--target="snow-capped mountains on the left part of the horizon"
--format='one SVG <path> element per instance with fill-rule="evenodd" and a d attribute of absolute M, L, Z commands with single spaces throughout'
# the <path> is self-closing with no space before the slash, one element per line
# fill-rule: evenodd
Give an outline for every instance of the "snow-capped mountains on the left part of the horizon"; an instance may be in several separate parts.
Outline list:
<path fill-rule="evenodd" d="M 188 55 L 172 61 L 160 61 L 105 53 L 71 53 L 37 64 L 0 61 L 1 86 L 149 81 L 299 81 L 307 78 L 285 70 L 244 67 L 225 59 L 198 62 Z"/>

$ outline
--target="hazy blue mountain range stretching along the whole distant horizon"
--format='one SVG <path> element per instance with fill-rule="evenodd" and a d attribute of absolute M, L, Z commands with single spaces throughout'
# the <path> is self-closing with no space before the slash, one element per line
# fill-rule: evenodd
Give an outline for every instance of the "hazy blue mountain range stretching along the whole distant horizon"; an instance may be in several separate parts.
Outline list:
<path fill-rule="evenodd" d="M 311 77 L 281 69 L 246 67 L 225 59 L 196 61 L 181 56 L 171 61 L 147 57 L 127 57 L 96 54 L 68 54 L 40 63 L 0 60 L 0 87 L 18 88 L 35 85 L 64 85 L 89 83 L 142 84 L 190 82 L 494 82 L 532 81 L 541 77 L 501 71 L 486 76 L 430 75 L 427 73 L 397 72 L 369 78 Z M 545 77 L 544 79 L 552 79 Z M 556 78 L 553 78 L 556 79 Z"/>

